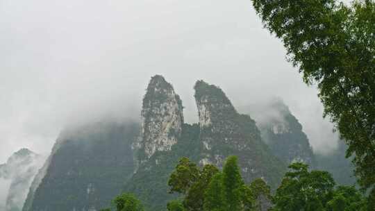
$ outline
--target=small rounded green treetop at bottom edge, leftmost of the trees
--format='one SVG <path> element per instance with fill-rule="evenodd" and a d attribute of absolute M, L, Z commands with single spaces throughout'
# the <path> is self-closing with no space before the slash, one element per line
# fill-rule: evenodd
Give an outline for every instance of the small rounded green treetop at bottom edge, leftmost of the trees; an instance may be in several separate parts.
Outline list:
<path fill-rule="evenodd" d="M 144 211 L 143 205 L 133 194 L 121 194 L 113 199 L 116 211 Z"/>

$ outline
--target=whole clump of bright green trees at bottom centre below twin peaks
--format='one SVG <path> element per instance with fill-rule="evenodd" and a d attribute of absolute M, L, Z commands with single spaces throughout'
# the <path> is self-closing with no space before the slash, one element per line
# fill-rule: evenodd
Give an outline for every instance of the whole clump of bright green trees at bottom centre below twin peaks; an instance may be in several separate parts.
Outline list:
<path fill-rule="evenodd" d="M 171 193 L 183 194 L 182 204 L 187 211 L 250 211 L 253 195 L 244 185 L 237 162 L 237 157 L 228 157 L 220 172 L 212 164 L 200 170 L 188 158 L 182 158 L 169 178 Z"/>

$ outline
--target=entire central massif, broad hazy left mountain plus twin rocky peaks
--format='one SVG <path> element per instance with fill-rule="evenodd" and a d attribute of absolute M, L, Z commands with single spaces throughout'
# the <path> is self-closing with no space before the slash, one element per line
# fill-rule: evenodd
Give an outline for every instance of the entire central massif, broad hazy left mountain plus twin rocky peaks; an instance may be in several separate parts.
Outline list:
<path fill-rule="evenodd" d="M 136 194 L 147 210 L 165 210 L 178 197 L 167 181 L 181 157 L 222 167 L 237 155 L 246 183 L 263 178 L 275 188 L 287 164 L 262 140 L 256 122 L 219 87 L 197 81 L 194 90 L 196 124 L 184 122 L 180 97 L 157 75 L 144 94 L 140 126 L 102 122 L 65 130 L 35 176 L 24 211 L 99 210 L 120 192 Z"/>

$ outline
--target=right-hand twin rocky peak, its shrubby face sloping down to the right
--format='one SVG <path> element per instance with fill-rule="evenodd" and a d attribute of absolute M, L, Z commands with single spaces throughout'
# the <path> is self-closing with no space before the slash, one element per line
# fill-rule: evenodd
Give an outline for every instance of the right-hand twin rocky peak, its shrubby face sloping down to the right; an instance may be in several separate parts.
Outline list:
<path fill-rule="evenodd" d="M 285 164 L 262 142 L 255 121 L 240 115 L 219 87 L 197 81 L 194 89 L 203 144 L 200 163 L 222 167 L 228 155 L 237 155 L 244 180 L 265 178 L 276 185 Z"/>

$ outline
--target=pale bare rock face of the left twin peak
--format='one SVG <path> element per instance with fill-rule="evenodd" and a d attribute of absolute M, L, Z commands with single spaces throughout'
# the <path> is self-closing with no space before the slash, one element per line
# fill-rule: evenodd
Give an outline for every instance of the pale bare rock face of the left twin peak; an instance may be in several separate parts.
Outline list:
<path fill-rule="evenodd" d="M 170 151 L 181 137 L 181 99 L 163 76 L 153 76 L 142 103 L 142 136 L 138 148 L 148 159 L 156 151 Z"/>

